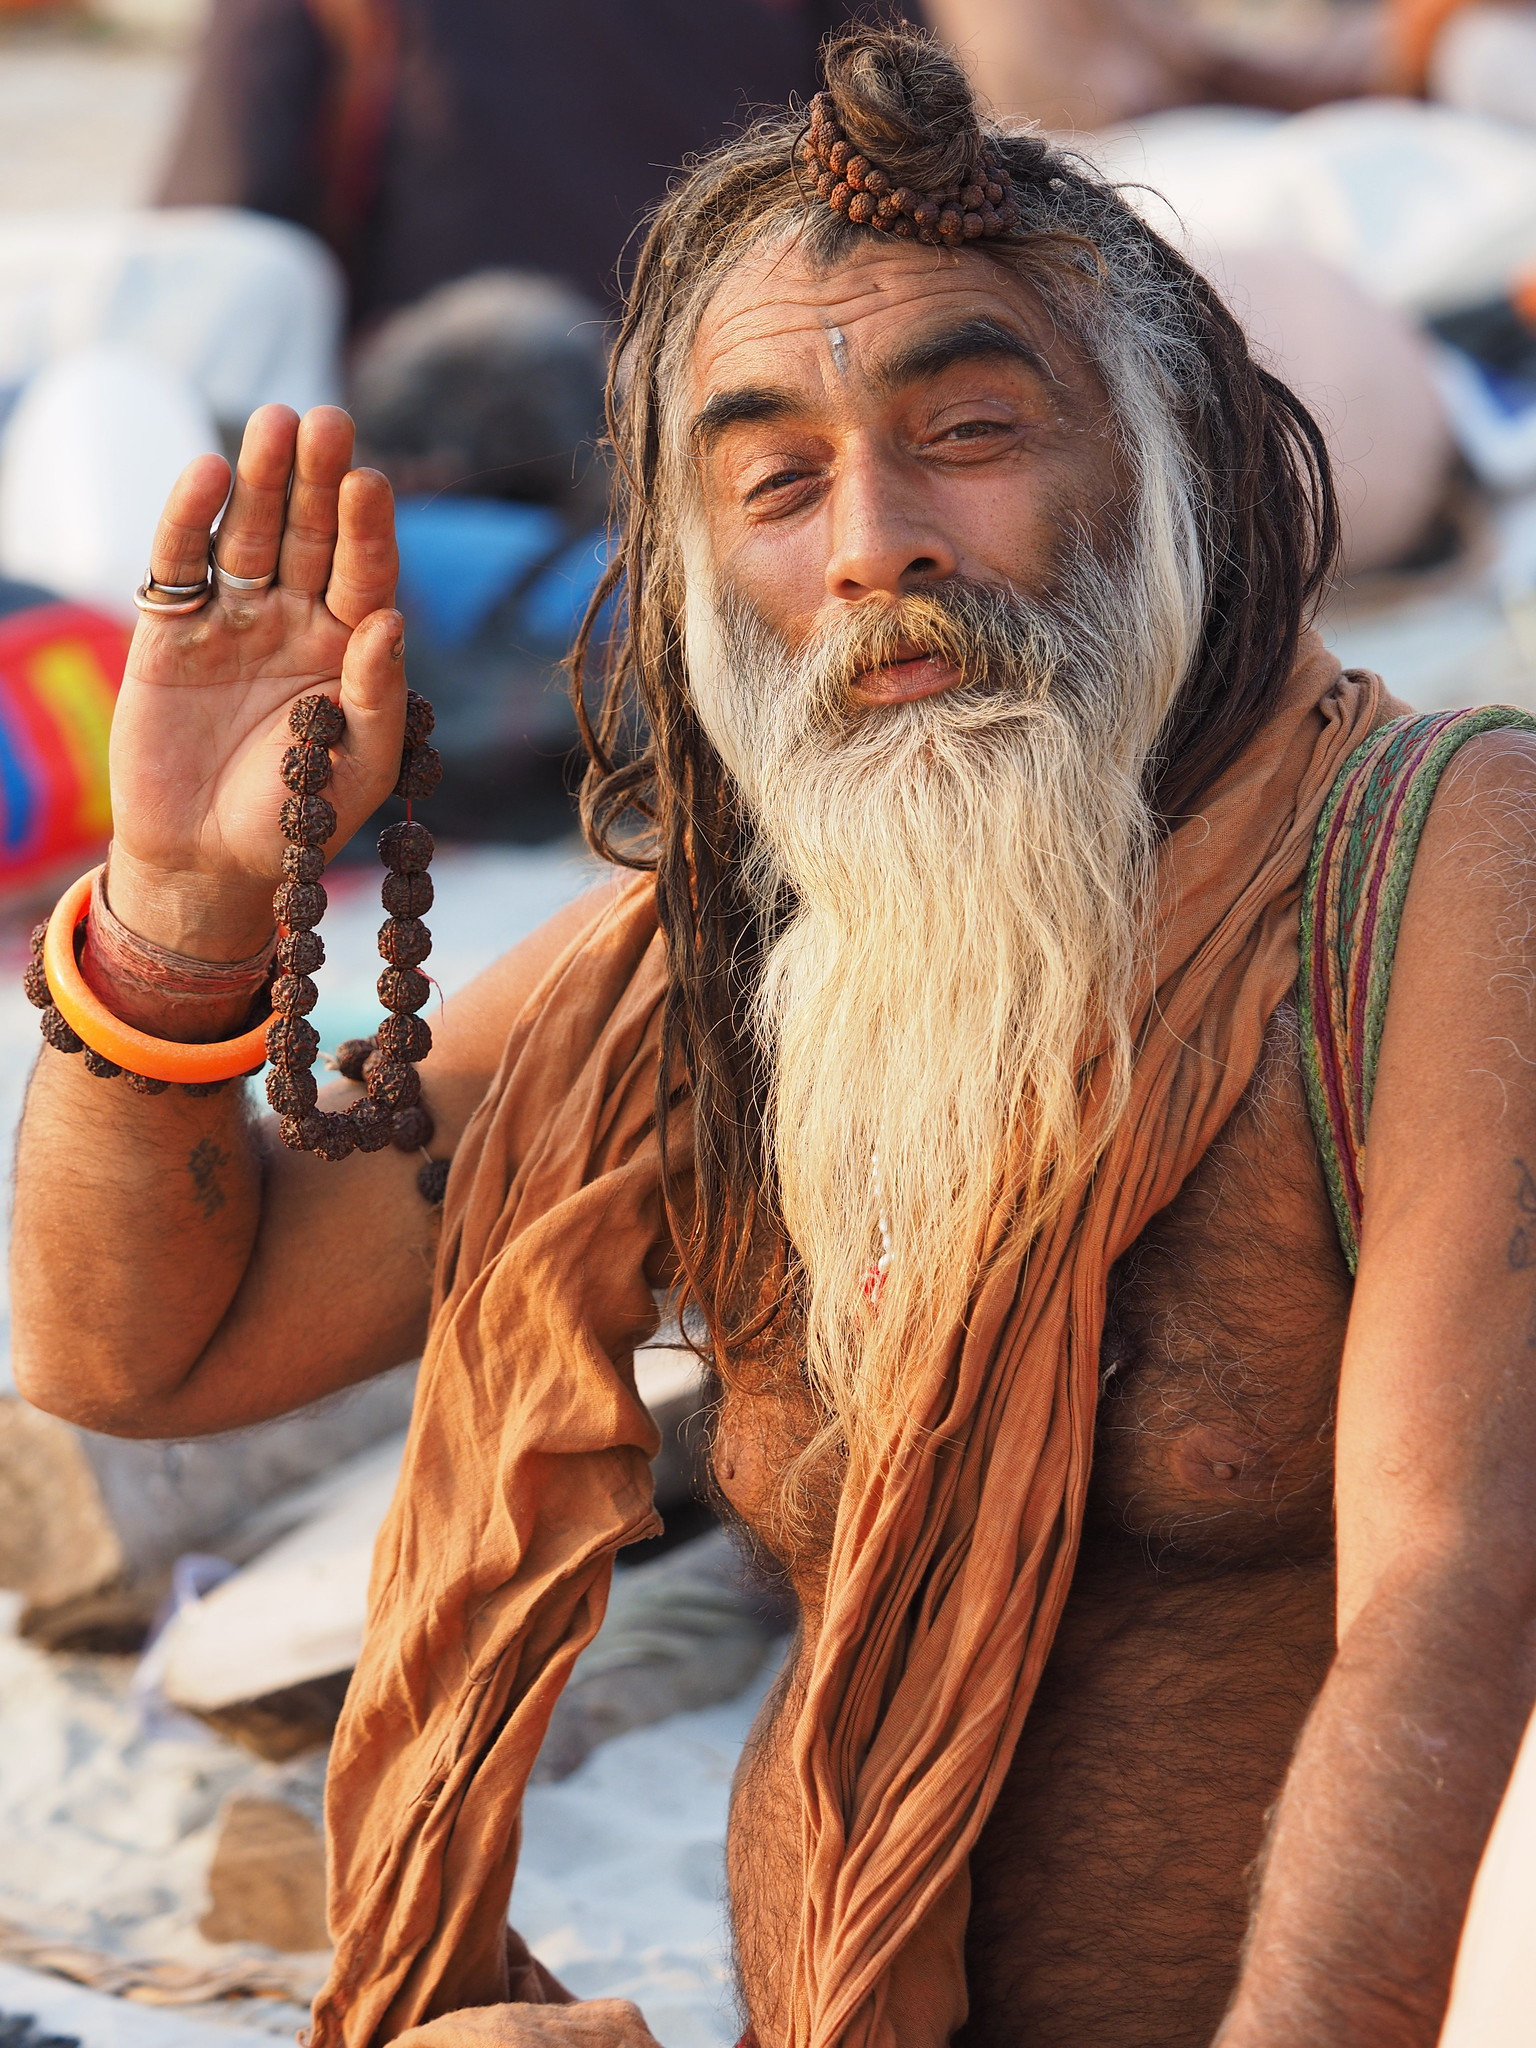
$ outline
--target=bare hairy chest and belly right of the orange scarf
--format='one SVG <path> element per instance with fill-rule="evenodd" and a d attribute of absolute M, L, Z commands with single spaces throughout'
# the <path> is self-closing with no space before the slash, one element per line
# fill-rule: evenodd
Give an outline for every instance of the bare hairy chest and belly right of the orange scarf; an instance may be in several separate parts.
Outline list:
<path fill-rule="evenodd" d="M 971 1858 L 956 2048 L 1198 2048 L 1333 1651 L 1350 1278 L 1294 1018 L 1116 1266 L 1083 1544 Z"/>

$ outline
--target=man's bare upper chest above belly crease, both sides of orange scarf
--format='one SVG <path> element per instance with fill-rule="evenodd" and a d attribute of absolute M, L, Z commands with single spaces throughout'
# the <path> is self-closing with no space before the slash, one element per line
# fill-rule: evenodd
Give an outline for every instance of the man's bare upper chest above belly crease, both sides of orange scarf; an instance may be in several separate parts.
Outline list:
<path fill-rule="evenodd" d="M 1110 1278 L 1090 1546 L 1159 1569 L 1325 1554 L 1348 1311 L 1286 1008 L 1221 1139 Z M 836 1456 L 797 1466 L 813 1430 L 782 1358 L 731 1384 L 715 1423 L 717 1485 L 809 1612 L 840 1485 Z"/>

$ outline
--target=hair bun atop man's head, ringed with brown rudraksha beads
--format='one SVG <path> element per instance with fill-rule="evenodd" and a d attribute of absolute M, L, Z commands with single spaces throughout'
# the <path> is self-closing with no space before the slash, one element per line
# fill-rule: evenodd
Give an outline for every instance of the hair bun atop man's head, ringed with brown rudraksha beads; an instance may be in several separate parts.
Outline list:
<path fill-rule="evenodd" d="M 801 158 L 817 197 L 862 227 L 956 248 L 1018 223 L 971 84 L 934 37 L 852 29 L 821 57 Z"/>

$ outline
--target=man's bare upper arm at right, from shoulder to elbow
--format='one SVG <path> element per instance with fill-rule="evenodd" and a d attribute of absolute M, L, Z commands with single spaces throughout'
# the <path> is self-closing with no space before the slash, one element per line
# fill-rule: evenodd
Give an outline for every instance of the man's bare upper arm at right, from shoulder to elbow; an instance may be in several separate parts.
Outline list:
<path fill-rule="evenodd" d="M 1339 1386 L 1339 1618 L 1393 1561 L 1530 1542 L 1536 737 L 1454 756 L 1403 905 Z"/>

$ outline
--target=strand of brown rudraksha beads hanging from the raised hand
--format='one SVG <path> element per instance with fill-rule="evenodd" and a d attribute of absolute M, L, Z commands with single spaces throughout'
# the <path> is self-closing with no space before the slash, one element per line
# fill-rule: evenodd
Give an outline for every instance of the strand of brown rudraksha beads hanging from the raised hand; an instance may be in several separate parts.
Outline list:
<path fill-rule="evenodd" d="M 379 930 L 379 952 L 385 971 L 379 975 L 379 999 L 389 1016 L 369 1044 L 356 1071 L 340 1061 L 348 1079 L 362 1081 L 367 1096 L 346 1110 L 317 1108 L 317 1087 L 311 1067 L 319 1053 L 319 1032 L 309 1012 L 319 995 L 313 973 L 326 958 L 315 926 L 326 913 L 326 891 L 319 877 L 326 856 L 319 848 L 336 831 L 336 811 L 322 795 L 330 782 L 330 750 L 346 731 L 340 705 L 328 696 L 301 696 L 289 713 L 293 745 L 283 756 L 283 780 L 291 795 L 283 805 L 283 885 L 272 899 L 279 924 L 276 967 L 272 981 L 272 1022 L 266 1030 L 266 1057 L 272 1071 L 266 1077 L 266 1100 L 279 1114 L 283 1143 L 293 1151 L 311 1151 L 319 1159 L 346 1159 L 352 1151 L 383 1151 L 399 1145 L 416 1151 L 432 1135 L 432 1122 L 420 1110 L 422 1079 L 416 1063 L 432 1047 L 432 1030 L 416 1012 L 426 1004 L 432 983 L 420 973 L 420 963 L 432 950 L 432 934 L 422 924 L 422 911 L 432 907 L 432 834 L 426 825 L 406 819 L 385 825 L 379 834 L 379 858 L 389 868 L 383 883 L 387 911 Z M 406 700 L 406 748 L 399 762 L 395 795 L 408 803 L 430 797 L 442 762 L 426 743 L 432 731 L 432 707 L 414 690 Z M 422 1135 L 426 1130 L 426 1135 Z"/>

